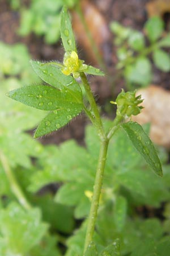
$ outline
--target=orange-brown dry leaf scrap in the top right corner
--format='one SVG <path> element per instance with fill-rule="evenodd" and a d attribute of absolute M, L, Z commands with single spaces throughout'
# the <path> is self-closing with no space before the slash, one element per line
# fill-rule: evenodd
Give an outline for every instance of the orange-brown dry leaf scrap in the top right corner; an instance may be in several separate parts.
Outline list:
<path fill-rule="evenodd" d="M 146 4 L 148 16 L 163 16 L 164 13 L 170 13 L 170 0 L 155 0 Z"/>

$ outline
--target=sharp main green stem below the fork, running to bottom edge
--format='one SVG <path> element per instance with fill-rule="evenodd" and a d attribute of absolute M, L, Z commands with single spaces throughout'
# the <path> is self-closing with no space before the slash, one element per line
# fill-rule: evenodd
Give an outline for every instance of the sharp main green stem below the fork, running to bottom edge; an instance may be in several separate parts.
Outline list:
<path fill-rule="evenodd" d="M 94 236 L 97 209 L 99 207 L 100 192 L 103 182 L 104 167 L 107 159 L 108 142 L 108 139 L 105 139 L 105 141 L 101 141 L 100 145 L 100 154 L 96 170 L 94 193 L 92 196 L 91 209 L 88 216 L 86 239 L 84 243 L 84 255 L 86 253 L 88 245 L 90 245 Z"/>

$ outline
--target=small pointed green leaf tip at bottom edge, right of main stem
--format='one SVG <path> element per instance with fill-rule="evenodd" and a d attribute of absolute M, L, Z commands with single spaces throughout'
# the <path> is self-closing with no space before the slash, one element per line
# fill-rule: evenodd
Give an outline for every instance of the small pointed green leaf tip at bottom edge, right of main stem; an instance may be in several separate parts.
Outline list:
<path fill-rule="evenodd" d="M 116 239 L 111 245 L 108 245 L 103 251 L 101 251 L 100 256 L 120 256 L 120 241 Z"/>

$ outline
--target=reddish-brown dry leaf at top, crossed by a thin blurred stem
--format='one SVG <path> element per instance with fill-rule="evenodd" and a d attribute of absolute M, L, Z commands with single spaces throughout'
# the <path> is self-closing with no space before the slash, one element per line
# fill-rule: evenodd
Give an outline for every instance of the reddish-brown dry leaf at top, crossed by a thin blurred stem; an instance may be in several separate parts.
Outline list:
<path fill-rule="evenodd" d="M 105 22 L 104 16 L 101 15 L 99 10 L 97 10 L 90 1 L 81 1 L 81 6 L 84 19 L 86 20 L 88 29 L 91 32 L 92 39 L 95 41 L 97 48 L 102 54 L 103 45 L 109 40 L 110 36 L 110 32 L 107 23 Z M 76 39 L 78 40 L 80 46 L 86 50 L 88 58 L 93 62 L 93 64 L 97 63 L 96 56 L 94 55 L 94 51 L 92 51 L 91 48 L 90 40 L 88 39 L 87 33 L 84 30 L 84 26 L 80 21 L 79 15 L 76 13 L 76 11 L 73 11 L 72 17 L 73 29 Z"/>

